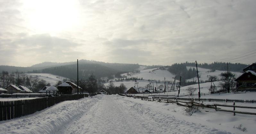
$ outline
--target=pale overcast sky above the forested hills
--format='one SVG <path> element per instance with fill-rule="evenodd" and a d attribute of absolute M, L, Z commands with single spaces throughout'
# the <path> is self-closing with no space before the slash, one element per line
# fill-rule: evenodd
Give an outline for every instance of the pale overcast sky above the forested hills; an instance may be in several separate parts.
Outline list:
<path fill-rule="evenodd" d="M 0 0 L 0 65 L 256 60 L 255 0 Z"/>

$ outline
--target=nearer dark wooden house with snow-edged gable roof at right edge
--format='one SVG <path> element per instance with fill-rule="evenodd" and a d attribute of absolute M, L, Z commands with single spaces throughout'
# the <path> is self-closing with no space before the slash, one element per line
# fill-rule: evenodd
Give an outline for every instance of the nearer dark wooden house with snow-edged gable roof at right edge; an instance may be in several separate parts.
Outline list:
<path fill-rule="evenodd" d="M 256 72 L 254 71 L 247 70 L 235 81 L 238 91 L 256 91 Z"/>

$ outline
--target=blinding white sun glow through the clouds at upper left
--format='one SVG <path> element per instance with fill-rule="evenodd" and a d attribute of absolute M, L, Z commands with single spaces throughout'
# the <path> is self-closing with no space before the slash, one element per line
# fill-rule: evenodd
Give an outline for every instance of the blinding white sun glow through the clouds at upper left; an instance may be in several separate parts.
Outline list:
<path fill-rule="evenodd" d="M 55 34 L 79 23 L 79 3 L 75 0 L 29 0 L 23 8 L 25 25 L 35 33 Z"/>

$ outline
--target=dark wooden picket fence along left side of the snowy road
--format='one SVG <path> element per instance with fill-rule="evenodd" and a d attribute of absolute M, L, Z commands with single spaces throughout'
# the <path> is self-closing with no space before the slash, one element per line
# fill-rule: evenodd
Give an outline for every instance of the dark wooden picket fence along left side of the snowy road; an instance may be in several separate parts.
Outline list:
<path fill-rule="evenodd" d="M 81 98 L 84 98 L 83 94 L 0 101 L 0 121 L 15 119 L 33 114 L 37 111 L 41 111 L 47 107 L 53 106 L 65 100 L 77 100 Z"/>

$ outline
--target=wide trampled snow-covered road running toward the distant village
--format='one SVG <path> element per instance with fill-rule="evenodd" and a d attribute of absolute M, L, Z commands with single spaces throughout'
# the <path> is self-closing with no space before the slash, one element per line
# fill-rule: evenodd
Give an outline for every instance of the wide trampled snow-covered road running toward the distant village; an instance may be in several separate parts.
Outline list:
<path fill-rule="evenodd" d="M 200 123 L 177 119 L 120 96 L 102 97 L 87 113 L 58 133 L 227 133 Z"/>

